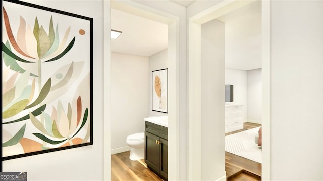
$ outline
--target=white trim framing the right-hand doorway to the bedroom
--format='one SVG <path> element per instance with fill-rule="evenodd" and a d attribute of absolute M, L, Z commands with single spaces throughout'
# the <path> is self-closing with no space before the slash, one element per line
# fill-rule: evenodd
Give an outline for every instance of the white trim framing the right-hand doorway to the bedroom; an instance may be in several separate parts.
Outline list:
<path fill-rule="evenodd" d="M 201 178 L 201 24 L 251 1 L 224 0 L 188 20 L 188 177 Z M 270 180 L 270 1 L 261 2 L 262 36 L 262 179 Z M 197 121 L 201 120 L 201 121 Z M 220 129 L 225 129 L 220 128 Z M 224 148 L 223 148 L 224 150 Z M 224 160 L 221 160 L 221 162 Z M 221 180 L 224 178 L 220 178 Z M 224 179 L 225 180 L 225 179 Z"/>

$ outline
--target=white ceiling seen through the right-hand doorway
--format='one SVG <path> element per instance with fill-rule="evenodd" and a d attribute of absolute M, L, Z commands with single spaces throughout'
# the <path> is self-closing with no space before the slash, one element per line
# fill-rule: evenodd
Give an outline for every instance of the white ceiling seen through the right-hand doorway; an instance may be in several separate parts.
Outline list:
<path fill-rule="evenodd" d="M 242 70 L 261 68 L 261 1 L 218 19 L 226 24 L 226 67 Z"/>

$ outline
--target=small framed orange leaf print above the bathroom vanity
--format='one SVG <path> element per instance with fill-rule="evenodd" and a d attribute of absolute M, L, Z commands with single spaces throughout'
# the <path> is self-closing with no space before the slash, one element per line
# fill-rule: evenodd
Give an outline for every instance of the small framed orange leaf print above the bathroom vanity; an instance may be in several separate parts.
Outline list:
<path fill-rule="evenodd" d="M 167 69 L 152 71 L 152 110 L 167 113 Z"/>

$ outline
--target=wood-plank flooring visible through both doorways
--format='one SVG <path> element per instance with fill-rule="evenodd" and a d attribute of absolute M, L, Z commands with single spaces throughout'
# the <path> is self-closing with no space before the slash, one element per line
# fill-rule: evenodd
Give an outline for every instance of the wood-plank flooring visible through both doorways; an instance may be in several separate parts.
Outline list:
<path fill-rule="evenodd" d="M 244 129 L 247 130 L 261 126 L 260 124 L 244 123 Z M 226 133 L 233 134 L 239 131 Z M 129 159 L 130 151 L 111 155 L 111 180 L 163 180 L 150 171 L 144 160 L 132 161 Z M 243 181 L 243 180 L 261 180 L 261 164 L 248 160 L 246 158 L 226 152 L 226 173 L 227 180 Z"/>

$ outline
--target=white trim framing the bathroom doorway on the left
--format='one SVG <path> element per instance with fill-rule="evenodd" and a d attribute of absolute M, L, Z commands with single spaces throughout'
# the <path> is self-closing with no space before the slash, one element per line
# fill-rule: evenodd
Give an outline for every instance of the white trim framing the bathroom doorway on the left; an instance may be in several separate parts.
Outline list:
<path fill-rule="evenodd" d="M 179 165 L 179 18 L 164 12 L 160 12 L 156 9 L 146 7 L 142 4 L 132 1 L 104 1 L 104 13 L 105 18 L 104 29 L 110 30 L 110 9 L 117 9 L 123 12 L 131 13 L 137 16 L 141 16 L 153 21 L 164 23 L 168 25 L 168 53 L 167 53 L 167 65 L 168 65 L 168 163 L 170 179 L 176 179 L 179 177 L 178 165 Z M 110 31 L 109 36 L 104 35 L 104 141 L 109 142 L 111 138 L 111 53 L 110 53 Z M 105 33 L 106 33 L 105 32 Z M 148 108 L 147 108 L 148 109 Z M 110 180 L 111 178 L 111 145 L 104 144 L 104 180 Z"/>

